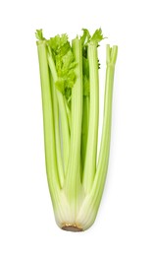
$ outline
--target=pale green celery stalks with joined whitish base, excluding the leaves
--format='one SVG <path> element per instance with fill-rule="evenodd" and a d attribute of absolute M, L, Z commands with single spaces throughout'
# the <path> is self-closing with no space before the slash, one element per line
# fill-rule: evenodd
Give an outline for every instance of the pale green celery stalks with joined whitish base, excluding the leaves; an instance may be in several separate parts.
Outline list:
<path fill-rule="evenodd" d="M 45 41 L 39 41 L 37 46 L 42 90 L 46 169 L 55 219 L 64 230 L 82 231 L 95 221 L 106 180 L 118 47 L 110 48 L 107 45 L 104 121 L 100 153 L 98 163 L 96 163 L 99 99 L 97 45 L 88 45 L 91 97 L 89 101 L 83 103 L 81 41 L 78 38 L 73 40 L 73 51 L 77 61 L 77 80 L 72 91 L 71 111 L 70 108 L 67 108 L 64 97 L 54 88 L 57 74 L 52 57 L 48 55 Z M 52 71 L 51 79 L 48 64 Z M 87 109 L 84 105 L 86 103 Z M 84 107 L 83 113 L 82 107 Z M 58 138 L 60 134 L 59 112 L 62 118 L 62 136 L 66 135 L 65 140 L 63 138 L 67 151 L 64 155 L 64 166 Z M 85 127 L 82 127 L 82 114 L 83 116 L 85 114 L 86 118 Z M 87 126 L 89 127 L 88 135 L 83 138 L 83 149 L 80 153 L 82 132 L 87 129 Z M 84 163 L 81 160 L 84 160 Z"/>

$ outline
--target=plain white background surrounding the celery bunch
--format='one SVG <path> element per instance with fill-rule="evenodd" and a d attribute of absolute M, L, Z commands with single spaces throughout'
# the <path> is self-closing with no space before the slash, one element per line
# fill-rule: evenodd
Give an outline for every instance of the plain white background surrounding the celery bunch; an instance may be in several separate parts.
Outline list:
<path fill-rule="evenodd" d="M 152 3 L 1 1 L 0 255 L 154 255 Z M 72 233 L 55 224 L 46 182 L 34 31 L 76 36 L 99 27 L 109 37 L 101 63 L 105 44 L 119 45 L 109 172 L 95 224 Z"/>

